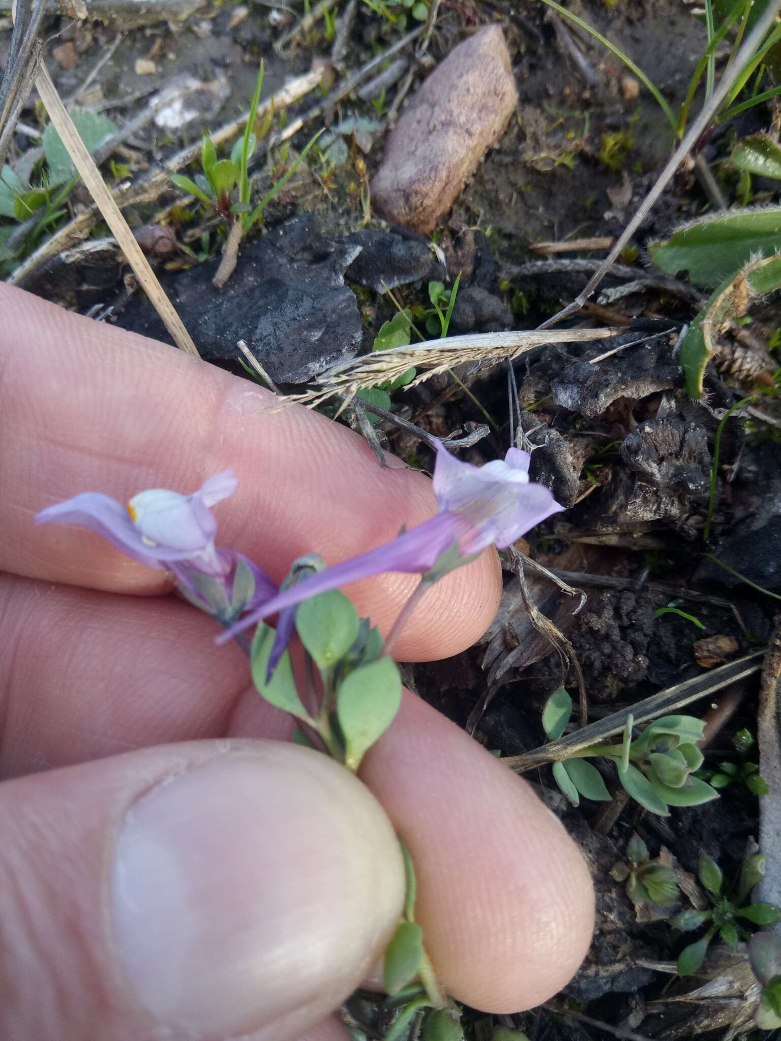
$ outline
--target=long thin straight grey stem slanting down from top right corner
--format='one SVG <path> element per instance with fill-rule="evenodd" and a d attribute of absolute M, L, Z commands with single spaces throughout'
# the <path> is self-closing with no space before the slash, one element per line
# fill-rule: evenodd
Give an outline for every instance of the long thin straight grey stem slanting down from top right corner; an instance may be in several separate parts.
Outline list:
<path fill-rule="evenodd" d="M 776 16 L 778 15 L 779 8 L 781 8 L 781 0 L 771 0 L 771 3 L 764 9 L 762 17 L 757 21 L 756 25 L 754 26 L 754 29 L 749 34 L 748 39 L 744 42 L 744 45 L 738 51 L 735 60 L 732 62 L 729 69 L 725 70 L 721 82 L 719 83 L 719 86 L 711 95 L 710 100 L 706 101 L 706 103 L 703 105 L 700 115 L 689 126 L 688 131 L 684 136 L 683 141 L 671 156 L 667 164 L 664 167 L 661 174 L 659 174 L 656 183 L 651 188 L 649 194 L 646 196 L 645 200 L 640 204 L 639 208 L 637 209 L 632 220 L 629 222 L 629 224 L 626 226 L 624 231 L 616 239 L 615 245 L 610 250 L 608 256 L 600 264 L 599 270 L 588 280 L 588 283 L 586 284 L 585 288 L 578 295 L 578 297 L 571 304 L 569 304 L 566 307 L 560 310 L 557 314 L 554 314 L 553 318 L 548 319 L 548 321 L 544 322 L 539 327 L 540 329 L 550 328 L 557 322 L 560 322 L 562 319 L 566 318 L 570 314 L 573 314 L 580 307 L 582 307 L 583 304 L 586 302 L 586 300 L 588 300 L 588 298 L 595 291 L 597 286 L 600 284 L 602 279 L 605 277 L 605 275 L 610 271 L 610 268 L 621 256 L 622 250 L 627 245 L 627 243 L 632 237 L 637 228 L 640 226 L 640 224 L 644 222 L 644 220 L 646 219 L 646 214 L 655 205 L 656 201 L 659 199 L 662 192 L 667 186 L 667 183 L 670 182 L 671 178 L 680 167 L 681 162 L 683 162 L 684 158 L 695 148 L 695 146 L 699 143 L 700 137 L 710 126 L 713 118 L 715 117 L 716 112 L 719 111 L 722 105 L 722 102 L 726 99 L 727 95 L 735 84 L 735 81 L 737 80 L 738 76 L 744 71 L 744 68 L 748 65 L 748 62 L 754 56 L 756 51 L 759 49 L 759 46 L 762 40 L 764 39 L 767 30 L 776 21 Z"/>

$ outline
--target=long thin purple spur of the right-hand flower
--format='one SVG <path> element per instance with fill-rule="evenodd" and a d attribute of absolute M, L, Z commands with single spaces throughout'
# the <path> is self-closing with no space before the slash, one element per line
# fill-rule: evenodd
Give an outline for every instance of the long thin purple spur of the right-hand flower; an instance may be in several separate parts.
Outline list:
<path fill-rule="evenodd" d="M 254 626 L 255 623 L 268 618 L 269 615 L 283 611 L 287 607 L 300 604 L 318 593 L 337 589 L 350 582 L 380 575 L 383 572 L 408 572 L 423 574 L 433 567 L 442 554 L 453 544 L 460 541 L 467 533 L 462 518 L 445 511 L 437 513 L 430 520 L 425 520 L 410 531 L 406 531 L 386 542 L 384 545 L 370 550 L 358 557 L 352 557 L 333 567 L 327 567 L 303 582 L 297 583 L 278 596 L 274 596 L 260 608 L 246 614 L 235 626 L 218 637 L 218 643 L 224 643 L 235 633 Z"/>

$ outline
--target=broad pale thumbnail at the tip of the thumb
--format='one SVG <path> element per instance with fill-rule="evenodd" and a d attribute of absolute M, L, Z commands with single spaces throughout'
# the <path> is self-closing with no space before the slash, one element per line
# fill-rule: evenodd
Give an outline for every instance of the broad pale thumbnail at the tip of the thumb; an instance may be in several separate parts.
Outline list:
<path fill-rule="evenodd" d="M 368 789 L 325 756 L 257 747 L 160 784 L 117 840 L 121 967 L 137 1002 L 188 1036 L 325 1015 L 403 899 L 398 843 Z"/>

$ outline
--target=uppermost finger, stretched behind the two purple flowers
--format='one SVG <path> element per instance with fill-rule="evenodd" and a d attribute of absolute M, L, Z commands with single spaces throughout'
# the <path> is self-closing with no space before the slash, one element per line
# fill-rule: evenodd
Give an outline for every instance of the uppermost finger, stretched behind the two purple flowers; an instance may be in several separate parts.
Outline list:
<path fill-rule="evenodd" d="M 382 469 L 361 437 L 173 348 L 72 314 L 0 284 L 0 569 L 96 589 L 151 593 L 167 579 L 90 532 L 33 526 L 80 491 L 120 502 L 147 487 L 194 491 L 232 468 L 218 543 L 275 580 L 317 552 L 329 564 L 380 545 L 435 511 L 430 482 Z M 387 630 L 418 579 L 348 587 Z M 407 626 L 406 660 L 444 658 L 487 628 L 501 592 L 494 551 L 443 579 Z"/>

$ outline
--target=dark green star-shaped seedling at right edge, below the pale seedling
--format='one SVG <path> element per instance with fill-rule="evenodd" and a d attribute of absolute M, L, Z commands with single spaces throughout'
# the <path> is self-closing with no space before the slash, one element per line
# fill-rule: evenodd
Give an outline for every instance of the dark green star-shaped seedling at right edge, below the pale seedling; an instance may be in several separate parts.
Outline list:
<path fill-rule="evenodd" d="M 725 891 L 724 877 L 716 862 L 706 853 L 700 854 L 698 869 L 700 883 L 710 902 L 710 909 L 691 908 L 681 911 L 670 924 L 682 933 L 690 933 L 707 925 L 707 932 L 689 943 L 678 956 L 678 974 L 690 975 L 703 963 L 708 945 L 716 934 L 727 946 L 736 949 L 739 940 L 749 940 L 751 933 L 744 922 L 751 925 L 775 925 L 781 921 L 781 909 L 775 904 L 747 904 L 754 886 L 764 877 L 764 854 L 757 853 L 745 861 L 736 883 Z"/>

